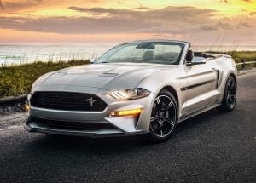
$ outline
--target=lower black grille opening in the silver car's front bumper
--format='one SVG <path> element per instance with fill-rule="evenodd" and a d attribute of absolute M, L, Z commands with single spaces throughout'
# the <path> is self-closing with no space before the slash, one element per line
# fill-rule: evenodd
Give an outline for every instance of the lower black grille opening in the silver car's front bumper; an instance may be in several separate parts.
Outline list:
<path fill-rule="evenodd" d="M 30 123 L 36 123 L 40 127 L 49 129 L 68 129 L 68 130 L 88 130 L 96 131 L 101 129 L 114 129 L 110 123 L 83 123 L 83 122 L 67 122 L 56 121 L 50 119 L 32 117 Z"/>

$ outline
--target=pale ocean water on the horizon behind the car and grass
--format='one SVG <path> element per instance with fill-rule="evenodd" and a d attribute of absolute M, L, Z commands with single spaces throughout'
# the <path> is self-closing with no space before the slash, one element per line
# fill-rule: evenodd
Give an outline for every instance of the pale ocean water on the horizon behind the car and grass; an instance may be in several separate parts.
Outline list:
<path fill-rule="evenodd" d="M 36 61 L 88 60 L 111 49 L 105 44 L 0 44 L 0 66 L 13 66 Z M 194 46 L 196 51 L 255 51 L 256 46 Z"/>

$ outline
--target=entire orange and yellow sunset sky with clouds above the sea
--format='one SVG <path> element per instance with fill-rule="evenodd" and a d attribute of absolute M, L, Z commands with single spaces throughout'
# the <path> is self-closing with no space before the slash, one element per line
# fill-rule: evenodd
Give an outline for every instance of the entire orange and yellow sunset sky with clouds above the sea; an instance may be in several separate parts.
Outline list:
<path fill-rule="evenodd" d="M 256 46 L 256 0 L 0 0 L 0 43 Z"/>

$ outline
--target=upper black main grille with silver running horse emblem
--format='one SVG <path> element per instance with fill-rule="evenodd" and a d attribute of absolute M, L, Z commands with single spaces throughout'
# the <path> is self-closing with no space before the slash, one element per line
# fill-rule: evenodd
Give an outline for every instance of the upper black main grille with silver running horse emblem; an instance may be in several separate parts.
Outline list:
<path fill-rule="evenodd" d="M 96 94 L 72 92 L 35 92 L 30 102 L 36 107 L 67 111 L 102 112 L 107 107 Z"/>

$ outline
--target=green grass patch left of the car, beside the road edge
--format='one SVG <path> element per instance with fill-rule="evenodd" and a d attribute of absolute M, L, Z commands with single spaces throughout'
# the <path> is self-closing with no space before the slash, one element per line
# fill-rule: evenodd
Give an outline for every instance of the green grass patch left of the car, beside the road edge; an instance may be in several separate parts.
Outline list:
<path fill-rule="evenodd" d="M 88 63 L 89 60 L 71 60 L 68 62 L 35 62 L 21 66 L 0 67 L 0 98 L 29 93 L 32 83 L 49 71 Z"/>

